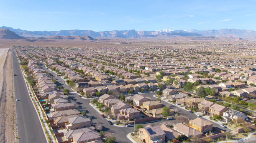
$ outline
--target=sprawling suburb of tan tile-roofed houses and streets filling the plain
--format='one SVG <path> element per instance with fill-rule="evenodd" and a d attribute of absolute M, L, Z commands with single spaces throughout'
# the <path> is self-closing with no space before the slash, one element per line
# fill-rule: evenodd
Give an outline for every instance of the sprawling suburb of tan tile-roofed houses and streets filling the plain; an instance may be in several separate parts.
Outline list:
<path fill-rule="evenodd" d="M 210 142 L 254 131 L 256 61 L 241 58 L 255 55 L 242 48 L 253 43 L 202 45 L 13 48 L 50 141 Z"/>

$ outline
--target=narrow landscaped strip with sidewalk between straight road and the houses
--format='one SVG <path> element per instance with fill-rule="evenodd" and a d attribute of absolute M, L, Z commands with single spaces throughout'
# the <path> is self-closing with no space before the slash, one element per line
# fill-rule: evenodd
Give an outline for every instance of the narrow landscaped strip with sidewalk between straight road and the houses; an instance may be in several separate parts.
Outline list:
<path fill-rule="evenodd" d="M 16 55 L 17 55 L 17 53 L 16 53 Z M 19 59 L 18 59 L 18 61 L 19 61 Z M 29 84 L 29 82 L 25 78 L 25 77 L 28 77 L 28 76 L 26 75 L 25 70 L 21 66 L 20 66 L 20 69 L 21 69 L 21 72 L 23 74 L 23 78 L 24 78 L 24 81 L 26 83 L 26 87 L 28 89 L 28 93 L 29 93 L 29 95 L 31 97 L 31 101 L 32 101 L 32 103 L 34 105 L 34 108 L 36 108 L 36 111 L 38 113 L 38 118 L 41 121 L 41 126 L 44 129 L 44 134 L 46 136 L 46 139 L 47 139 L 47 141 L 49 143 L 56 143 L 57 139 L 53 135 L 54 131 L 52 130 L 50 124 L 46 122 L 46 121 L 48 121 L 48 118 L 47 118 L 47 116 L 46 116 L 46 114 L 44 112 L 44 109 L 41 106 L 40 102 L 38 101 L 38 99 L 36 97 L 36 94 L 35 94 L 35 92 L 33 90 L 33 87 Z"/>

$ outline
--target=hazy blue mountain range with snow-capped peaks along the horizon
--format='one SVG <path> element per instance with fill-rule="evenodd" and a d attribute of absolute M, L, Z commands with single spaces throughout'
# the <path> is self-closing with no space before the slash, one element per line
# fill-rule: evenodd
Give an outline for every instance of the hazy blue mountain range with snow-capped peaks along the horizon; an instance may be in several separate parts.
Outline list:
<path fill-rule="evenodd" d="M 15 32 L 21 37 L 52 37 L 50 39 L 58 39 L 55 36 L 61 36 L 60 39 L 89 39 L 94 38 L 148 38 L 148 37 L 241 37 L 243 39 L 256 39 L 256 31 L 253 30 L 237 30 L 237 29 L 222 29 L 222 30 L 156 30 L 156 31 L 136 31 L 136 30 L 113 30 L 96 32 L 92 30 L 60 30 L 60 31 L 27 31 L 14 29 L 12 27 L 2 26 L 1 28 Z M 76 37 L 78 36 L 78 37 Z M 89 37 L 83 37 L 89 36 Z M 43 38 L 44 37 L 44 38 Z M 93 37 L 93 38 L 92 38 Z M 49 38 L 46 38 L 49 39 Z"/>

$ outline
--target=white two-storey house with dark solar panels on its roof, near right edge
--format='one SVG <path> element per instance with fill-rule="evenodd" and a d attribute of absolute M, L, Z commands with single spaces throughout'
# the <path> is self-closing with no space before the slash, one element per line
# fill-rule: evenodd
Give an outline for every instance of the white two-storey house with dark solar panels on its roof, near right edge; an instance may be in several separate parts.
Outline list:
<path fill-rule="evenodd" d="M 230 122 L 231 120 L 235 119 L 238 120 L 245 120 L 247 118 L 246 114 L 243 112 L 239 112 L 233 109 L 228 109 L 223 113 L 223 118 L 226 120 L 226 123 Z"/>

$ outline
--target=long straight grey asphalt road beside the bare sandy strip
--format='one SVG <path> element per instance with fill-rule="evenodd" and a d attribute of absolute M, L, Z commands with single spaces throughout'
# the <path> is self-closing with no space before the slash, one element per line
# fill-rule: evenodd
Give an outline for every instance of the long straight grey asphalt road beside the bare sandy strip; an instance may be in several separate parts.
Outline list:
<path fill-rule="evenodd" d="M 41 121 L 28 94 L 14 49 L 12 52 L 13 73 L 17 75 L 14 76 L 15 97 L 20 99 L 20 101 L 16 101 L 18 141 L 19 143 L 47 143 Z"/>

